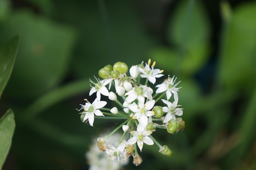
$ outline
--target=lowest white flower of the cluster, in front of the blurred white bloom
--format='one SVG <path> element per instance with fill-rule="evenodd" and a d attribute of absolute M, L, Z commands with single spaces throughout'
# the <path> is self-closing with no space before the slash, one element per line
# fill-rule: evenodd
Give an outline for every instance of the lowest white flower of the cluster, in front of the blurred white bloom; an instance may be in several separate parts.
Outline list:
<path fill-rule="evenodd" d="M 124 151 L 125 145 L 126 145 L 126 141 L 123 141 L 121 144 L 119 144 L 119 146 L 117 146 L 117 148 L 115 148 L 115 146 L 108 145 L 108 148 L 110 148 L 110 149 L 106 149 L 106 153 L 110 157 L 111 161 L 115 161 L 116 157 L 118 160 L 118 164 L 119 164 L 120 159 L 123 162 L 126 161 L 126 152 Z"/>

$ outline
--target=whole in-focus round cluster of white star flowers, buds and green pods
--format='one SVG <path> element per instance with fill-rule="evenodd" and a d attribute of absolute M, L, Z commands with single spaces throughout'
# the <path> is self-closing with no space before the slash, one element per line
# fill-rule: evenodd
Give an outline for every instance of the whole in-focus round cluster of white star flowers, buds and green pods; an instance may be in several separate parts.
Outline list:
<path fill-rule="evenodd" d="M 164 128 L 168 133 L 183 130 L 185 122 L 177 117 L 183 114 L 183 109 L 178 105 L 178 91 L 181 87 L 175 84 L 175 76 L 168 78 L 161 84 L 153 86 L 156 78 L 164 76 L 163 70 L 155 68 L 155 62 L 150 65 L 142 62 L 135 66 L 128 66 L 124 62 L 116 62 L 113 66 L 108 64 L 99 70 L 96 81 L 90 80 L 91 89 L 89 95 L 96 93 L 96 99 L 91 103 L 85 99 L 85 105 L 81 105 L 81 121 L 93 126 L 94 118 L 120 119 L 123 122 L 115 128 L 107 137 L 97 139 L 98 148 L 106 152 L 111 161 L 125 161 L 127 157 L 133 157 L 133 163 L 138 166 L 142 162 L 137 147 L 142 152 L 143 145 L 159 146 L 159 152 L 166 156 L 172 156 L 173 152 L 166 146 L 162 146 L 152 136 L 157 128 Z M 130 76 L 128 75 L 128 70 Z M 143 84 L 142 84 L 143 82 Z M 101 100 L 101 95 L 107 96 L 117 106 L 105 108 L 107 102 Z M 102 110 L 102 111 L 101 111 Z M 96 116 L 96 117 L 94 117 Z M 122 129 L 123 135 L 118 146 L 105 144 L 109 137 L 117 130 Z M 128 134 L 128 140 L 124 137 Z"/>

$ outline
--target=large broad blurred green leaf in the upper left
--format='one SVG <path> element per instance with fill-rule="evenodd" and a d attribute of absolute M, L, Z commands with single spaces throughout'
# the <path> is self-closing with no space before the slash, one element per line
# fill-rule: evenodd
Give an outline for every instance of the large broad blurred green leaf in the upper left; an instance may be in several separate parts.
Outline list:
<path fill-rule="evenodd" d="M 74 46 L 73 29 L 19 11 L 0 28 L 0 32 L 3 38 L 19 33 L 22 42 L 13 75 L 6 88 L 8 95 L 32 98 L 61 82 Z"/>

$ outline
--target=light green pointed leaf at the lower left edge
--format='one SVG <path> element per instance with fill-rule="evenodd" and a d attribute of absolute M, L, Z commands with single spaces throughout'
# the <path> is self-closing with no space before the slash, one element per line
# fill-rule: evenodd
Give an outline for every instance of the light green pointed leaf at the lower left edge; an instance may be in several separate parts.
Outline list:
<path fill-rule="evenodd" d="M 11 139 L 15 128 L 14 114 L 11 109 L 0 118 L 0 169 L 11 147 Z"/>

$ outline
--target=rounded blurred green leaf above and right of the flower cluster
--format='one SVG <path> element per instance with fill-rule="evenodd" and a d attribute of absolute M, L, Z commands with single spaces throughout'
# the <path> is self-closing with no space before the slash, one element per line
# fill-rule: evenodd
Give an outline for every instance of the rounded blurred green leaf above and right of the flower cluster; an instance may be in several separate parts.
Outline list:
<path fill-rule="evenodd" d="M 179 66 L 182 73 L 191 75 L 207 60 L 211 28 L 202 5 L 198 1 L 189 5 L 191 15 L 188 13 L 188 5 L 181 2 L 168 24 L 168 39 L 178 45 L 178 49 L 170 49 L 174 55 L 166 55 L 164 61 L 175 61 L 172 65 Z M 171 63 L 166 62 L 165 66 L 167 65 L 170 66 Z"/>

